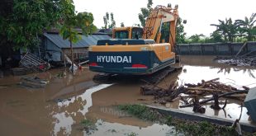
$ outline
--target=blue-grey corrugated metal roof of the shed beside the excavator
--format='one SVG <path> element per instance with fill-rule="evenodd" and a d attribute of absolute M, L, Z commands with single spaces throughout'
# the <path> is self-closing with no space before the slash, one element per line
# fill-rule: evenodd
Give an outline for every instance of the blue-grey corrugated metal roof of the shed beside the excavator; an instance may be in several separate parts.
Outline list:
<path fill-rule="evenodd" d="M 64 40 L 59 34 L 44 34 L 50 41 L 55 43 L 59 48 L 69 48 L 69 40 Z M 83 48 L 90 45 L 96 45 L 97 40 L 107 40 L 111 39 L 108 35 L 82 35 L 82 40 L 79 40 L 77 43 L 73 44 L 73 48 Z"/>

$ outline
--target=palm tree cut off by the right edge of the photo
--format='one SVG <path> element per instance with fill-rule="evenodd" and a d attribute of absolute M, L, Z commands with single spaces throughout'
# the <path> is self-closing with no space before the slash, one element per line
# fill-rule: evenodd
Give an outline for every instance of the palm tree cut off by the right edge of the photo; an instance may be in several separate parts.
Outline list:
<path fill-rule="evenodd" d="M 256 22 L 256 13 L 253 13 L 249 18 L 245 16 L 243 20 L 235 20 L 235 25 L 240 28 L 240 33 L 247 34 L 247 40 L 254 40 L 255 39 L 255 31 L 256 26 L 254 23 Z"/>

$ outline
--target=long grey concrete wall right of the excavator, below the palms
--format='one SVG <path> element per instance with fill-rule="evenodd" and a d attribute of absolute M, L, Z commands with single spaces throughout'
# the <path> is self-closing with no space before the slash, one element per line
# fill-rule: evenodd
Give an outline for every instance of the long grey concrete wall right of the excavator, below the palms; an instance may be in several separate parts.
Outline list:
<path fill-rule="evenodd" d="M 178 44 L 177 54 L 192 55 L 235 55 L 244 43 Z M 256 42 L 248 42 L 240 54 L 256 51 Z"/>

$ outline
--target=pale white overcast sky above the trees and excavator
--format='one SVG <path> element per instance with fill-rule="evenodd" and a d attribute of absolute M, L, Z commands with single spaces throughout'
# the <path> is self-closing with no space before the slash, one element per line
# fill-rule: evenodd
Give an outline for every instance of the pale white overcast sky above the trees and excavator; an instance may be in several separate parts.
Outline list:
<path fill-rule="evenodd" d="M 125 26 L 140 23 L 138 13 L 140 7 L 146 7 L 148 0 L 73 0 L 78 12 L 92 12 L 94 25 L 104 26 L 103 16 L 106 12 L 113 12 L 116 26 L 124 22 Z M 153 0 L 156 5 L 167 6 L 169 2 L 178 4 L 179 16 L 187 20 L 185 31 L 187 36 L 203 34 L 209 36 L 218 24 L 219 19 L 243 19 L 256 12 L 256 0 Z"/>

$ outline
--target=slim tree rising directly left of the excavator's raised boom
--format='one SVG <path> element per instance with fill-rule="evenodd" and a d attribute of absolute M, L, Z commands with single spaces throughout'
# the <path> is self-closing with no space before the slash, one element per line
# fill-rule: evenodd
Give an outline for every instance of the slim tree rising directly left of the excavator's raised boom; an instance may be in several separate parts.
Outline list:
<path fill-rule="evenodd" d="M 139 16 L 140 24 L 143 27 L 145 27 L 146 19 L 149 16 L 149 13 L 151 12 L 151 10 L 153 9 L 152 5 L 153 5 L 152 0 L 148 0 L 147 7 L 140 8 L 140 13 L 138 16 Z"/>

